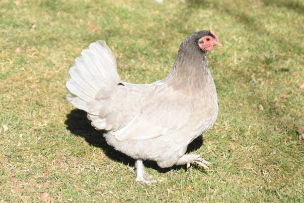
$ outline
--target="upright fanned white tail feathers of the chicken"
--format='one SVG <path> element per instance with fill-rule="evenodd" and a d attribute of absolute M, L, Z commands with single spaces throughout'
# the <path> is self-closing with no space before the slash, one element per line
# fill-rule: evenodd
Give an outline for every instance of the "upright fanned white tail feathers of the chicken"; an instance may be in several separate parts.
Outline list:
<path fill-rule="evenodd" d="M 66 87 L 70 95 L 67 100 L 75 107 L 88 111 L 87 102 L 95 100 L 100 90 L 117 86 L 120 78 L 114 54 L 105 41 L 91 43 L 81 55 L 69 70 L 70 79 Z"/>

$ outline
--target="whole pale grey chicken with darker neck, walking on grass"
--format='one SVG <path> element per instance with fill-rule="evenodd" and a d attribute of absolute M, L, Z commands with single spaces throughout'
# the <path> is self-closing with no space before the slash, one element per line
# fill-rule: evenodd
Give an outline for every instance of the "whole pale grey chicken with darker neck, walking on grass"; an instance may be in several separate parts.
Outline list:
<path fill-rule="evenodd" d="M 85 110 L 87 118 L 116 150 L 136 159 L 136 181 L 150 182 L 143 160 L 161 168 L 195 163 L 208 169 L 187 146 L 217 119 L 218 98 L 207 51 L 223 44 L 214 31 L 202 30 L 181 43 L 171 72 L 151 84 L 121 81 L 105 41 L 81 52 L 69 70 L 67 100 Z"/>

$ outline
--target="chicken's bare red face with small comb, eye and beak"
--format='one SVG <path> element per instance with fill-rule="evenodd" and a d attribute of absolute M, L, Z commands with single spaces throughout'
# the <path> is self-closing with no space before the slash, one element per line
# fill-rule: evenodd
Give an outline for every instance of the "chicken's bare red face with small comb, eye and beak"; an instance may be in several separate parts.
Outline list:
<path fill-rule="evenodd" d="M 207 51 L 210 51 L 214 45 L 223 46 L 222 42 L 220 42 L 218 36 L 213 30 L 208 31 L 207 34 L 202 36 L 197 43 L 202 50 Z"/>

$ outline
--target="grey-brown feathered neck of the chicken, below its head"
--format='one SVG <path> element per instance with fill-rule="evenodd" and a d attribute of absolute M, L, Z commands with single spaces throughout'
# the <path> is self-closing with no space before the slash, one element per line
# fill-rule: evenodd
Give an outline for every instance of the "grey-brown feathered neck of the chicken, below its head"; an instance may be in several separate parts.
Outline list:
<path fill-rule="evenodd" d="M 197 91 L 214 86 L 206 52 L 180 50 L 165 81 L 174 89 Z"/>

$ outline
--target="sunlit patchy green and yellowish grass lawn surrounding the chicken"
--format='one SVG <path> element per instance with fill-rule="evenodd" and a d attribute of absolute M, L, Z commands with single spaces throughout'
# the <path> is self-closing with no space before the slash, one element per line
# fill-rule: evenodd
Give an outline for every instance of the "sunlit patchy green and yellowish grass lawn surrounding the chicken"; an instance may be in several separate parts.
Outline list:
<path fill-rule="evenodd" d="M 41 193 L 67 203 L 303 203 L 303 13 L 302 0 L 1 0 L 0 203 Z M 208 54 L 219 117 L 192 147 L 211 170 L 147 162 L 163 181 L 136 183 L 134 160 L 66 101 L 67 71 L 104 39 L 122 80 L 151 83 L 201 29 L 225 44 Z"/>

